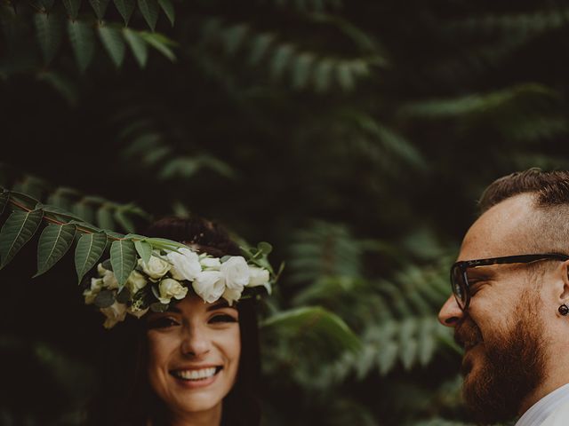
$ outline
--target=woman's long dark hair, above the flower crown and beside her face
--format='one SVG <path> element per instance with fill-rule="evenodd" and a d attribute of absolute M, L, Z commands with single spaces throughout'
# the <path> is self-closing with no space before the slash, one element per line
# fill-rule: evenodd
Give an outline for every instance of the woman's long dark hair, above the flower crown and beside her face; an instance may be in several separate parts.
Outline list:
<path fill-rule="evenodd" d="M 150 225 L 144 235 L 180 241 L 212 256 L 238 256 L 240 250 L 220 225 L 202 218 L 166 217 Z M 241 356 L 236 383 L 223 399 L 223 426 L 258 426 L 260 408 L 256 390 L 260 380 L 260 353 L 254 299 L 237 303 Z M 108 332 L 102 353 L 100 391 L 91 406 L 89 424 L 162 426 L 164 402 L 148 383 L 147 337 L 144 320 L 129 318 Z"/>

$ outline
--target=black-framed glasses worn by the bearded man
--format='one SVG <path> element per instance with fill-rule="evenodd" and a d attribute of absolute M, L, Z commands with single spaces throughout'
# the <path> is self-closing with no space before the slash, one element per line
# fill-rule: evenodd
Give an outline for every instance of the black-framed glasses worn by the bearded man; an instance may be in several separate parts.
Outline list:
<path fill-rule="evenodd" d="M 491 264 L 531 264 L 539 260 L 569 260 L 569 256 L 560 253 L 546 253 L 538 255 L 517 255 L 491 257 L 489 259 L 463 260 L 451 267 L 451 287 L 456 303 L 462 311 L 466 312 L 470 304 L 469 268 L 488 266 Z"/>

